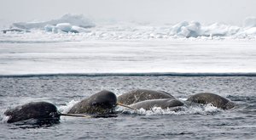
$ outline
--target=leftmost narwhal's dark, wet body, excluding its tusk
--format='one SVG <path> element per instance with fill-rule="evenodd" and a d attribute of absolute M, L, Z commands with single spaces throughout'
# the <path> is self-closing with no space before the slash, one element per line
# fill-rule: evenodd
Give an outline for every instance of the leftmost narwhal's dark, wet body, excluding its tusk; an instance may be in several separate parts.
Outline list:
<path fill-rule="evenodd" d="M 60 113 L 54 104 L 48 102 L 31 102 L 20 105 L 15 109 L 8 109 L 4 115 L 9 116 L 8 123 L 28 119 L 55 119 L 60 120 Z"/>

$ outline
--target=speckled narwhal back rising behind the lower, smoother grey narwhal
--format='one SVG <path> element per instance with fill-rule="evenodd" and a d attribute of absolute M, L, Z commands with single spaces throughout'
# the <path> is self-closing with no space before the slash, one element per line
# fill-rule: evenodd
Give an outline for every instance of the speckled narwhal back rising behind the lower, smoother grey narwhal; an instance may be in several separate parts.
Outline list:
<path fill-rule="evenodd" d="M 118 103 L 120 104 L 135 104 L 137 102 L 145 101 L 148 99 L 160 99 L 160 98 L 174 98 L 168 92 L 153 91 L 146 89 L 137 89 L 131 92 L 126 92 L 118 97 Z"/>

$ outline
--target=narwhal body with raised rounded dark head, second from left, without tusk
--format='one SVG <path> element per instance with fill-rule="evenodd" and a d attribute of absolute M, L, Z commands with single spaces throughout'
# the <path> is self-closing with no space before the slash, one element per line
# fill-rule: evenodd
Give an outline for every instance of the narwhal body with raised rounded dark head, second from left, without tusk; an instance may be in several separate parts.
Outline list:
<path fill-rule="evenodd" d="M 109 114 L 113 112 L 116 105 L 116 95 L 104 90 L 74 104 L 68 114 Z"/>

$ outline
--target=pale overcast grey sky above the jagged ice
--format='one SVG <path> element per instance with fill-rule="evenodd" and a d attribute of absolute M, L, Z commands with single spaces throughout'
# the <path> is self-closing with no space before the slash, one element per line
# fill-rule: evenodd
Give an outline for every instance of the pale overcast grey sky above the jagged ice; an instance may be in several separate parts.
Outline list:
<path fill-rule="evenodd" d="M 2 23 L 52 20 L 68 13 L 95 20 L 241 25 L 246 17 L 256 17 L 256 0 L 0 0 Z"/>

